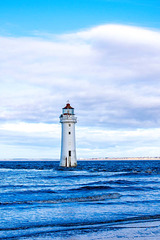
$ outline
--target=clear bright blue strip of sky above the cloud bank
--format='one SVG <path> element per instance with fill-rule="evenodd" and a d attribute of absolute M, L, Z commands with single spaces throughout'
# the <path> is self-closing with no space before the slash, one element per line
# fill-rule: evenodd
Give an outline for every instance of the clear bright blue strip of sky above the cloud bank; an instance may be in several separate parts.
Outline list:
<path fill-rule="evenodd" d="M 5 0 L 0 3 L 2 35 L 65 33 L 114 23 L 159 28 L 158 0 Z"/>

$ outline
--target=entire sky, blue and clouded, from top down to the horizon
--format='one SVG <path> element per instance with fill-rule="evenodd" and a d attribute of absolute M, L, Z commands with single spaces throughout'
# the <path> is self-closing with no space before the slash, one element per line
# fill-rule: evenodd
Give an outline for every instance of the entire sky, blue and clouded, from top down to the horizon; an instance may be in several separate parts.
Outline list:
<path fill-rule="evenodd" d="M 0 2 L 0 159 L 160 156 L 160 1 Z"/>

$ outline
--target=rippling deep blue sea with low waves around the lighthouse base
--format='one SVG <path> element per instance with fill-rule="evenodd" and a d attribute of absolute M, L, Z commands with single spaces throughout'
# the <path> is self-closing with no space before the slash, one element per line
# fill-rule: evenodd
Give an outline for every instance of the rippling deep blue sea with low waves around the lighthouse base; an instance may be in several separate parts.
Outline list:
<path fill-rule="evenodd" d="M 159 240 L 160 161 L 1 161 L 0 239 Z"/>

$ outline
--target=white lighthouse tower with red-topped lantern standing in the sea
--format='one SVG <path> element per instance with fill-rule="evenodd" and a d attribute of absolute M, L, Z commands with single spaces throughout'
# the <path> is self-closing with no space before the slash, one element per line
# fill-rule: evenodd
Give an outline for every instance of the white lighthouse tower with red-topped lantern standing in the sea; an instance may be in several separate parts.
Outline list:
<path fill-rule="evenodd" d="M 75 139 L 75 123 L 77 118 L 74 114 L 74 108 L 67 102 L 62 108 L 60 115 L 60 123 L 62 124 L 61 132 L 61 167 L 76 167 L 76 139 Z"/>

